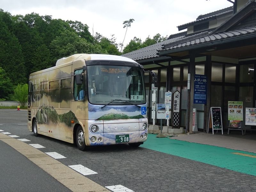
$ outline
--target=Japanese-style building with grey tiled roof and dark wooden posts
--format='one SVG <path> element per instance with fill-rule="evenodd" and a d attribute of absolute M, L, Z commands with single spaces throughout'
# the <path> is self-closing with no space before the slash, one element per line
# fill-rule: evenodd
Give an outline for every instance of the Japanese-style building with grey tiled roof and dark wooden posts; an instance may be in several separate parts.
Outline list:
<path fill-rule="evenodd" d="M 229 2 L 233 6 L 199 15 L 196 20 L 179 25 L 178 30 L 187 29 L 185 32 L 122 55 L 157 73 L 157 103 L 164 102 L 164 92 L 178 90 L 181 93 L 180 110 L 170 115 L 172 127 L 195 131 L 192 116 L 196 108 L 198 130 L 214 131 L 214 122 L 209 121 L 211 107 L 221 108 L 221 131 L 234 126 L 232 120 L 242 120 L 242 127 L 247 125 L 246 128 L 253 129 L 256 126 L 256 121 L 254 124 L 246 116 L 240 115 L 240 119 L 239 115 L 232 116 L 231 111 L 238 113 L 241 109 L 228 108 L 228 101 L 243 101 L 245 114 L 245 107 L 256 106 L 256 2 Z M 198 76 L 207 80 L 206 86 L 201 88 L 204 91 L 197 89 L 194 80 Z M 145 83 L 151 110 L 152 81 L 148 73 L 145 73 Z M 149 123 L 152 123 L 152 114 L 148 113 Z M 156 124 L 159 123 L 160 120 L 156 120 Z"/>

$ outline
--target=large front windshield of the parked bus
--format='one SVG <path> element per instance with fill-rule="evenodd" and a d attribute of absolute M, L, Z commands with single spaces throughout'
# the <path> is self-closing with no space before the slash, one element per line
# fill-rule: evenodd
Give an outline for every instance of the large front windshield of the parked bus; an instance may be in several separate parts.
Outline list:
<path fill-rule="evenodd" d="M 146 103 L 142 69 L 114 65 L 87 66 L 88 100 L 92 104 Z M 119 100 L 119 101 L 117 101 Z M 127 103 L 125 105 L 127 105 Z"/>

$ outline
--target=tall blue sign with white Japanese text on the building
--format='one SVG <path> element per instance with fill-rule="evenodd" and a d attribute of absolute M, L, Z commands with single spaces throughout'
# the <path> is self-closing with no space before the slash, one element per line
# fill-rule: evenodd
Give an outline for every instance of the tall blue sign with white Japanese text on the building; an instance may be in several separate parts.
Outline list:
<path fill-rule="evenodd" d="M 194 79 L 194 103 L 206 104 L 207 77 L 205 75 L 195 75 Z"/>

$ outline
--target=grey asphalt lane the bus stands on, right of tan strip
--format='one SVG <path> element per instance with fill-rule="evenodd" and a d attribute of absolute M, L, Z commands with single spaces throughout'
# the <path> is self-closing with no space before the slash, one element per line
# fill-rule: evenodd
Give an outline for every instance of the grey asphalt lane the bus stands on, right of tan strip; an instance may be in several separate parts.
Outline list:
<path fill-rule="evenodd" d="M 125 144 L 91 147 L 82 152 L 73 144 L 46 136 L 34 137 L 24 125 L 26 121 L 25 110 L 0 109 L 0 129 L 31 140 L 28 144 L 44 146 L 39 149 L 42 152 L 65 156 L 58 161 L 67 166 L 81 164 L 97 172 L 85 177 L 104 187 L 122 185 L 135 192 L 256 191 L 256 177 L 252 175 Z M 12 150 L 10 153 L 17 156 Z"/>

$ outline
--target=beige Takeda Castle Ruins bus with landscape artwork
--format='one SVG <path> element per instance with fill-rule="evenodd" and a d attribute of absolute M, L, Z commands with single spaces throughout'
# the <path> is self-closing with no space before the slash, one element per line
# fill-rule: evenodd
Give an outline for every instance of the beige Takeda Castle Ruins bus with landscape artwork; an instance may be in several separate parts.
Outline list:
<path fill-rule="evenodd" d="M 29 75 L 28 130 L 86 146 L 147 140 L 142 65 L 122 56 L 75 54 Z M 156 74 L 150 72 L 156 83 Z"/>

